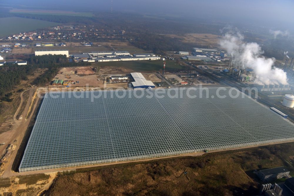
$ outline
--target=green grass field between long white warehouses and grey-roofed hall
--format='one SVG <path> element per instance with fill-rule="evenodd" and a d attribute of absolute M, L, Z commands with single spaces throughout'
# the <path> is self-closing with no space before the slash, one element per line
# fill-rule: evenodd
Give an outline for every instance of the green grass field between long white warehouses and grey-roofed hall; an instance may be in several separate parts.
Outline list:
<path fill-rule="evenodd" d="M 163 61 L 123 61 L 123 62 L 99 62 L 98 66 L 118 66 L 132 69 L 136 72 L 152 72 L 163 69 Z M 166 61 L 166 71 L 185 70 L 187 66 L 180 66 L 174 61 Z"/>

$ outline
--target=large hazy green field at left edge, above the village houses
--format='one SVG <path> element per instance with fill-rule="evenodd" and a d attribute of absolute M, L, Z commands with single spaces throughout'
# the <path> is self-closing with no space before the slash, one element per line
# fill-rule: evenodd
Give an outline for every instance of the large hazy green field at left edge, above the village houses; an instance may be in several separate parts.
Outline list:
<path fill-rule="evenodd" d="M 11 34 L 18 34 L 20 32 L 33 31 L 40 28 L 59 25 L 59 23 L 56 22 L 26 19 L 20 17 L 0 18 L 0 24 L 2 26 L 0 36 L 9 36 Z"/>

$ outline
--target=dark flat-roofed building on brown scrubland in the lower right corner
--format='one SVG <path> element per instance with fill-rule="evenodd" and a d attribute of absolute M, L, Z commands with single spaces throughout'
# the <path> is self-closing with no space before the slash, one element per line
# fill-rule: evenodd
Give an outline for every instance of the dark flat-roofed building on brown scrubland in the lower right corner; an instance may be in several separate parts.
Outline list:
<path fill-rule="evenodd" d="M 271 181 L 287 176 L 290 171 L 286 167 L 275 167 L 258 171 L 257 175 L 262 181 Z"/>

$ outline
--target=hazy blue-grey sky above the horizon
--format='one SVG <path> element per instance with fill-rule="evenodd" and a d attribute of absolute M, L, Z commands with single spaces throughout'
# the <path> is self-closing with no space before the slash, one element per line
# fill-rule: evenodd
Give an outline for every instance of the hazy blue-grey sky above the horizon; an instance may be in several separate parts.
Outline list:
<path fill-rule="evenodd" d="M 2 0 L 13 5 L 40 6 L 60 10 L 110 11 L 111 0 Z M 11 3 L 12 2 L 12 3 Z M 258 23 L 287 29 L 294 21 L 290 0 L 113 0 L 113 11 L 132 11 L 190 18 L 220 19 L 228 22 Z M 289 27 L 291 28 L 291 27 Z"/>

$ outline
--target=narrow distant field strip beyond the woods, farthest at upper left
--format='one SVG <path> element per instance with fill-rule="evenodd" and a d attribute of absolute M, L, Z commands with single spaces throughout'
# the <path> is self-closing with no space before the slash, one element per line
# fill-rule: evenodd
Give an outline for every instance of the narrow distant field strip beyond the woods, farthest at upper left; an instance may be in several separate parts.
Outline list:
<path fill-rule="evenodd" d="M 42 9 L 11 9 L 9 12 L 17 14 L 41 14 L 41 15 L 57 15 L 57 16 L 94 16 L 90 12 L 74 12 L 62 10 L 42 10 Z"/>

